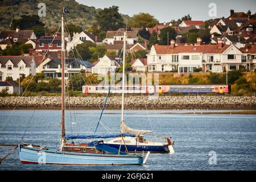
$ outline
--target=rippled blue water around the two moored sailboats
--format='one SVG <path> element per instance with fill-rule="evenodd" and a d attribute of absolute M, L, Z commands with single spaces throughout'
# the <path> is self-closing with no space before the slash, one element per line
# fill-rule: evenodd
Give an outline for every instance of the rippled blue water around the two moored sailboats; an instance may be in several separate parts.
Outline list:
<path fill-rule="evenodd" d="M 212 110 L 209 110 L 212 111 Z M 126 123 L 135 129 L 154 130 L 157 136 L 172 136 L 175 154 L 150 154 L 144 166 L 55 166 L 20 164 L 18 150 L 9 156 L 0 170 L 255 170 L 256 115 L 240 114 L 182 114 L 174 110 L 132 110 L 126 113 Z M 201 111 L 200 111 L 201 112 Z M 0 143 L 24 142 L 58 147 L 60 139 L 59 110 L 0 110 Z M 32 117 L 34 113 L 34 116 Z M 170 114 L 180 113 L 180 114 Z M 67 112 L 67 131 L 92 134 L 100 110 Z M 31 119 L 32 117 L 32 119 Z M 118 132 L 119 111 L 107 110 L 102 118 L 108 130 Z M 31 120 L 31 122 L 30 122 Z M 30 123 L 28 125 L 28 123 Z M 28 126 L 28 127 L 27 127 Z M 98 134 L 108 133 L 100 125 Z M 8 149 L 8 150 L 7 150 Z M 0 147 L 0 157 L 10 148 Z M 209 164 L 209 152 L 215 151 L 217 164 Z"/>

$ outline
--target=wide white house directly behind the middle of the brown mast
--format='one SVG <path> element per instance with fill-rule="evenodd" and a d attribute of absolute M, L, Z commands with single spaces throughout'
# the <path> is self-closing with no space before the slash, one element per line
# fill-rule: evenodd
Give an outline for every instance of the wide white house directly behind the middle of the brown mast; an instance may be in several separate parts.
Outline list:
<path fill-rule="evenodd" d="M 67 80 L 72 75 L 85 72 L 92 72 L 94 65 L 89 61 L 80 59 L 67 58 L 65 59 L 65 79 Z M 42 69 L 43 68 L 43 69 Z M 44 73 L 44 77 L 61 78 L 61 59 L 46 59 L 38 67 L 38 71 Z"/>

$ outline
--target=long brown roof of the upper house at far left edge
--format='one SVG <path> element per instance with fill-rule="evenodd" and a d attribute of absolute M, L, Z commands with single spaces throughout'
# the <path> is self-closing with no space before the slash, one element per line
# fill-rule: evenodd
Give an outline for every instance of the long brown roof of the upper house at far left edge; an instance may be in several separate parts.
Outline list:
<path fill-rule="evenodd" d="M 0 39 L 6 39 L 9 35 L 13 38 L 25 38 L 30 39 L 34 30 L 19 30 L 16 32 L 15 30 L 7 30 L 0 32 Z"/>

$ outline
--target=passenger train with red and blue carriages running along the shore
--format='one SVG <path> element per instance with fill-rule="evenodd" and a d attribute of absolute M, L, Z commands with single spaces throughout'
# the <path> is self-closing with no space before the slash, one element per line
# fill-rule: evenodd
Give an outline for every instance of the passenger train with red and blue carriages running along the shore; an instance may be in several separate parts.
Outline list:
<path fill-rule="evenodd" d="M 84 85 L 82 93 L 108 93 L 109 85 Z M 225 94 L 231 92 L 231 86 L 228 84 L 208 84 L 208 85 L 126 85 L 125 93 L 127 94 L 170 94 L 170 93 L 216 93 Z M 113 85 L 110 93 L 122 93 L 122 85 Z"/>

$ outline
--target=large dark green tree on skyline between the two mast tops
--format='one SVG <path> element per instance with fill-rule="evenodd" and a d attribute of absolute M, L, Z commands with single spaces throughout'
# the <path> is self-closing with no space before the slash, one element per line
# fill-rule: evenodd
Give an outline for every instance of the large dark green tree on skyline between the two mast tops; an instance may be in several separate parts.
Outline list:
<path fill-rule="evenodd" d="M 118 13 L 118 10 L 118 6 L 112 6 L 98 11 L 95 17 L 101 31 L 118 30 L 124 27 L 122 16 Z"/>

